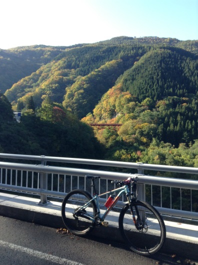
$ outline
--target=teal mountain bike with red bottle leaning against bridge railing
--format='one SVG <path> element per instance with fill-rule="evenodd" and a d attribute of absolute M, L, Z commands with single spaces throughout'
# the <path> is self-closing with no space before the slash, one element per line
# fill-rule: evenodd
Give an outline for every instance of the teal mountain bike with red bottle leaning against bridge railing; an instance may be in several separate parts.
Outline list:
<path fill-rule="evenodd" d="M 95 179 L 99 176 L 86 175 L 91 179 L 94 195 L 75 189 L 67 193 L 62 201 L 61 216 L 66 228 L 75 235 L 87 234 L 95 226 L 107 226 L 104 221 L 107 214 L 124 194 L 125 205 L 121 208 L 118 226 L 124 242 L 129 248 L 141 255 L 150 255 L 158 251 L 165 240 L 165 224 L 159 212 L 150 204 L 136 199 L 133 191 L 136 178 L 123 181 L 112 180 L 118 187 L 102 194 L 95 190 Z M 99 198 L 109 195 L 101 213 Z M 114 197 L 114 195 L 116 195 Z"/>

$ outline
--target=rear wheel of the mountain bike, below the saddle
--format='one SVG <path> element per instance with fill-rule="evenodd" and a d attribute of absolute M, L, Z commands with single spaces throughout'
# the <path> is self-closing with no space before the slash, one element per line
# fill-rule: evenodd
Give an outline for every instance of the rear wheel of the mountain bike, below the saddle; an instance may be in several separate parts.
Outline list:
<path fill-rule="evenodd" d="M 66 228 L 73 234 L 84 235 L 88 233 L 94 225 L 89 217 L 94 218 L 96 204 L 90 201 L 91 195 L 84 190 L 72 190 L 68 192 L 62 201 L 61 215 Z M 89 203 L 88 203 L 89 202 Z M 88 203 L 86 206 L 79 208 Z"/>

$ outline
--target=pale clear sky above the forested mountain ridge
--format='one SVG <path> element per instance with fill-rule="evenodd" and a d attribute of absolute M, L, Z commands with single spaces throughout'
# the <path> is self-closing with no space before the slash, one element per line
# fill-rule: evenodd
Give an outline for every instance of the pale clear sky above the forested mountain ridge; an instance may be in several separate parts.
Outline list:
<path fill-rule="evenodd" d="M 1 0 L 0 48 L 116 36 L 198 40 L 198 0 Z"/>

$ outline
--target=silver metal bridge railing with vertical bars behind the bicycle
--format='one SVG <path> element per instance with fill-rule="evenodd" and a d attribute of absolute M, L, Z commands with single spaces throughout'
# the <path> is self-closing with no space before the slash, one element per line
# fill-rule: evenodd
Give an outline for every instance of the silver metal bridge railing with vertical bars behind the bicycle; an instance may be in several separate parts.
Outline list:
<path fill-rule="evenodd" d="M 143 170 L 170 171 L 177 173 L 198 174 L 194 167 L 154 165 L 95 159 L 80 159 L 67 157 L 19 155 L 0 153 L 5 159 L 22 159 L 37 161 L 36 164 L 18 162 L 0 162 L 0 188 L 9 191 L 38 194 L 40 203 L 47 202 L 47 196 L 64 197 L 72 189 L 80 188 L 92 192 L 90 182 L 85 174 L 99 175 L 97 190 L 103 193 L 113 186 L 110 180 L 137 177 L 137 197 L 154 205 L 160 213 L 181 218 L 198 220 L 198 180 L 144 175 Z M 28 162 L 29 162 L 28 161 Z M 75 163 L 93 166 L 133 168 L 137 173 L 112 172 L 76 167 L 49 166 L 47 162 Z M 84 167 L 84 166 L 83 166 Z M 90 167 L 90 166 L 89 166 Z M 121 203 L 121 202 L 120 202 Z M 123 205 L 123 204 L 122 204 Z"/>

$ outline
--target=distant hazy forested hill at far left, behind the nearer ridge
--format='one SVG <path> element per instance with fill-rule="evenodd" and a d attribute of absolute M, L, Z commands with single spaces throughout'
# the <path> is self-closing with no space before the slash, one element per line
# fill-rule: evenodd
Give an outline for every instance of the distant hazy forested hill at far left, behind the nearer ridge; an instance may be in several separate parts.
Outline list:
<path fill-rule="evenodd" d="M 68 46 L 32 45 L 0 49 L 0 91 L 4 93 L 15 82 L 35 72 L 67 48 Z"/>

